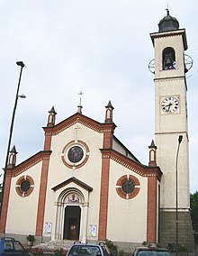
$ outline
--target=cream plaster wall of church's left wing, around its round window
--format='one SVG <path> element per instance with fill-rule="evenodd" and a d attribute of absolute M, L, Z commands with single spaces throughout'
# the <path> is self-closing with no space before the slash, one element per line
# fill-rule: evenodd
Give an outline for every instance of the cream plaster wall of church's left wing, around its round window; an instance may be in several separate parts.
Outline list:
<path fill-rule="evenodd" d="M 35 233 L 40 189 L 41 161 L 22 174 L 12 178 L 10 200 L 7 211 L 6 233 Z M 20 197 L 15 184 L 23 175 L 29 175 L 34 181 L 34 189 L 28 197 Z"/>

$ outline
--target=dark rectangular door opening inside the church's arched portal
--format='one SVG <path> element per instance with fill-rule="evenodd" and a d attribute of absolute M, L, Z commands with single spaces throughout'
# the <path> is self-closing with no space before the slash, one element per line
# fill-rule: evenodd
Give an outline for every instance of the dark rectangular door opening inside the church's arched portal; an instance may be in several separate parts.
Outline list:
<path fill-rule="evenodd" d="M 79 240 L 80 216 L 80 206 L 66 206 L 63 239 Z"/>

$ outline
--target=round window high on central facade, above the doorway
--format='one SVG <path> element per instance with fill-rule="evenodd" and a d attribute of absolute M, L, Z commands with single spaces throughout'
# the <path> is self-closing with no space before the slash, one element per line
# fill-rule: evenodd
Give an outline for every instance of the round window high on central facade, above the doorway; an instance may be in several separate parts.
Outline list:
<path fill-rule="evenodd" d="M 61 159 L 70 169 L 82 167 L 89 157 L 89 148 L 80 140 L 68 142 L 63 148 Z"/>

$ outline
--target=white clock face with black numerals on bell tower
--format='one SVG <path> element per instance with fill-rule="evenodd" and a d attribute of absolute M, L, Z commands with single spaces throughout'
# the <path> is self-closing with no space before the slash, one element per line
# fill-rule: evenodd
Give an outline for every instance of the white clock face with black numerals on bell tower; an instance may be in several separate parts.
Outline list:
<path fill-rule="evenodd" d="M 167 96 L 161 102 L 161 110 L 164 113 L 175 113 L 179 108 L 179 100 L 175 96 Z"/>

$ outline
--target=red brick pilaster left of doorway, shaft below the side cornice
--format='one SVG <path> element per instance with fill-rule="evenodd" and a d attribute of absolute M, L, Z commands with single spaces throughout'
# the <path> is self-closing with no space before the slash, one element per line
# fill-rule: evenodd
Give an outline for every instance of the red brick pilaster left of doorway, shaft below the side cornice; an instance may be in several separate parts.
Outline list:
<path fill-rule="evenodd" d="M 43 230 L 48 173 L 49 173 L 49 152 L 48 152 L 48 155 L 44 156 L 42 160 L 41 177 L 40 177 L 40 195 L 39 195 L 38 210 L 37 210 L 37 222 L 36 222 L 36 235 L 38 236 L 42 235 L 42 230 Z"/>

